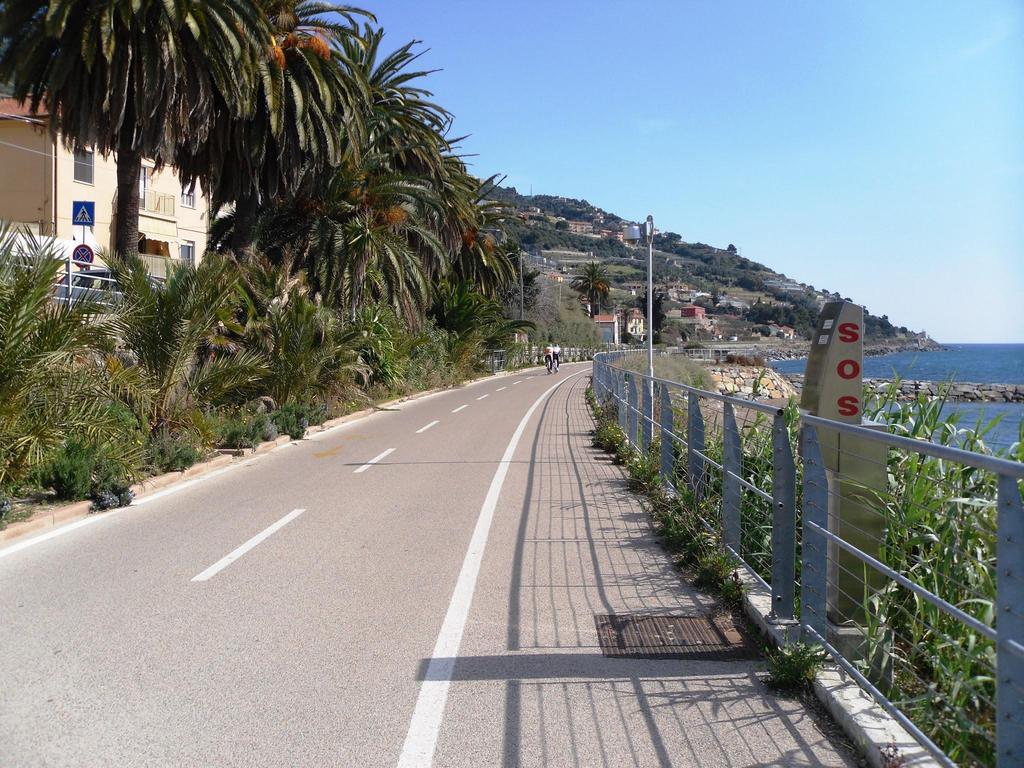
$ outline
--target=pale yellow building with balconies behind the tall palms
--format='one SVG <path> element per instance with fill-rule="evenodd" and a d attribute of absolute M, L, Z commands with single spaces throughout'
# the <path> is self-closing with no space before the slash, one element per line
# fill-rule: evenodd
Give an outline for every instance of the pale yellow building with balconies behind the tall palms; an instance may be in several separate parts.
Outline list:
<path fill-rule="evenodd" d="M 206 252 L 209 205 L 197 186 L 189 194 L 173 169 L 143 161 L 139 175 L 139 252 L 157 276 L 175 260 L 195 262 Z M 50 134 L 45 116 L 13 99 L 0 99 L 0 220 L 36 234 L 85 242 L 99 251 L 114 245 L 117 164 L 114 157 L 72 152 Z M 76 201 L 95 204 L 95 223 L 72 221 Z"/>

